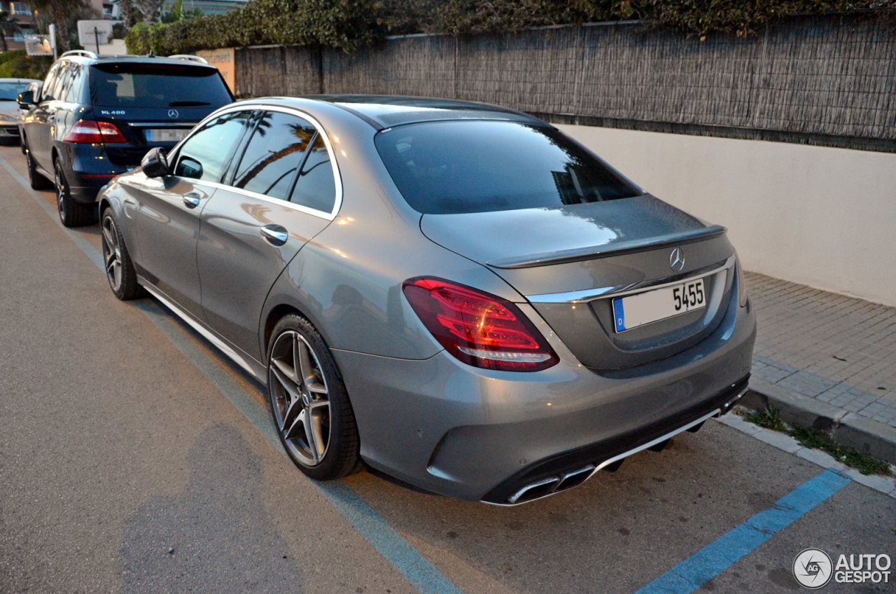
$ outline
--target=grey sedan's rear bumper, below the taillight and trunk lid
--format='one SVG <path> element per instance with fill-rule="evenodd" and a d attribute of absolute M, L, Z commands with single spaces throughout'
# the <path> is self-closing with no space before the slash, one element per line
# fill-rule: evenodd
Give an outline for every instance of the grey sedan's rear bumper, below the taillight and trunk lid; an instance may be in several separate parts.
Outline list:
<path fill-rule="evenodd" d="M 724 412 L 750 372 L 755 317 L 732 299 L 698 345 L 625 371 L 585 368 L 546 329 L 561 363 L 534 373 L 479 370 L 444 352 L 409 361 L 335 351 L 361 456 L 434 493 L 507 504 L 522 485 L 599 467 Z"/>

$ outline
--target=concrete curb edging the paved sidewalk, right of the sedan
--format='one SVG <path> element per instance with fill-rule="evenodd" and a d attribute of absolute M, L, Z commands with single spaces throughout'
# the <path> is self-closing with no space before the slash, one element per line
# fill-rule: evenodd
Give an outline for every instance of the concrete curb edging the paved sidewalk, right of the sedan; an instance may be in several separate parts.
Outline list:
<path fill-rule="evenodd" d="M 753 410 L 774 406 L 788 423 L 829 432 L 849 448 L 896 464 L 896 429 L 889 425 L 755 378 L 737 404 Z"/>

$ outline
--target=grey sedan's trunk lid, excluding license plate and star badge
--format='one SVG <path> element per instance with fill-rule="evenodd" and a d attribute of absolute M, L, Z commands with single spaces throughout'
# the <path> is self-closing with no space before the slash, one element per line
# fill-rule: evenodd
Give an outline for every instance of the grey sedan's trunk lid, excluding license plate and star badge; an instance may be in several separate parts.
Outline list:
<path fill-rule="evenodd" d="M 676 354 L 711 334 L 727 310 L 734 249 L 725 229 L 650 195 L 492 213 L 424 214 L 421 231 L 488 266 L 572 353 L 594 369 Z M 685 265 L 670 266 L 672 249 Z M 616 332 L 615 297 L 701 277 L 706 306 Z"/>

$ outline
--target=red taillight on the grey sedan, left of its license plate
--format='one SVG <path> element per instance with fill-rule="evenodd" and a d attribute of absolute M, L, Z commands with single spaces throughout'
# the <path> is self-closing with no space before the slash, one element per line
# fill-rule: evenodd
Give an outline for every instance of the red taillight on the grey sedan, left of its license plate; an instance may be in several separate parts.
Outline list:
<path fill-rule="evenodd" d="M 510 301 L 438 278 L 402 286 L 420 320 L 445 350 L 484 369 L 539 371 L 559 359 Z"/>

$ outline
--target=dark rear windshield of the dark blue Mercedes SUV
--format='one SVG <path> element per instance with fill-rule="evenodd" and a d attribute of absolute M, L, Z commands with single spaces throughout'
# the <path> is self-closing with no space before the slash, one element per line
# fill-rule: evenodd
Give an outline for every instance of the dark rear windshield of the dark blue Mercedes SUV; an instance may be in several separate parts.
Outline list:
<path fill-rule="evenodd" d="M 108 107 L 176 108 L 232 101 L 214 68 L 104 64 L 90 68 L 90 102 Z"/>

